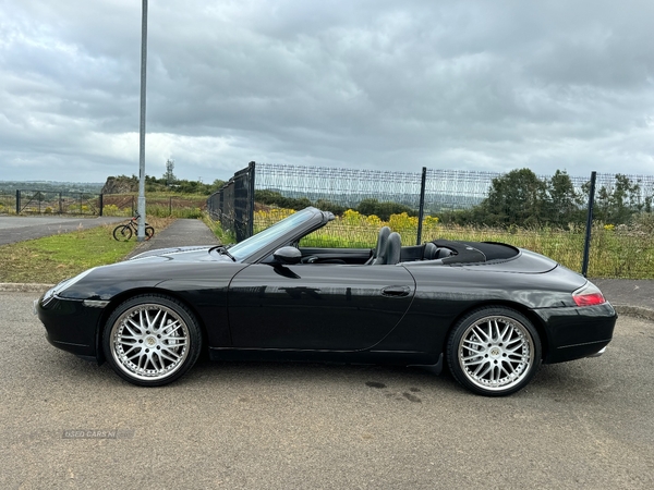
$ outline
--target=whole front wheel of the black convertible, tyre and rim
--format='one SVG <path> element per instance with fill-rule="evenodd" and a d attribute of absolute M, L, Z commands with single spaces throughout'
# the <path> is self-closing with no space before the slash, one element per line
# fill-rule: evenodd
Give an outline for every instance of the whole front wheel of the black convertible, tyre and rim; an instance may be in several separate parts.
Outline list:
<path fill-rule="evenodd" d="M 202 348 L 195 316 L 158 294 L 128 299 L 109 317 L 102 334 L 107 363 L 140 387 L 161 387 L 193 367 Z"/>

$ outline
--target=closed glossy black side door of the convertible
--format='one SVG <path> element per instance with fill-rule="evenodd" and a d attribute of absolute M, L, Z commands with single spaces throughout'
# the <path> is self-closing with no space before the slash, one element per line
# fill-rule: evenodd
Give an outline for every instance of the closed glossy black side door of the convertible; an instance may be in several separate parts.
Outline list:
<path fill-rule="evenodd" d="M 401 266 L 251 265 L 229 286 L 232 345 L 365 350 L 400 323 L 414 293 Z"/>

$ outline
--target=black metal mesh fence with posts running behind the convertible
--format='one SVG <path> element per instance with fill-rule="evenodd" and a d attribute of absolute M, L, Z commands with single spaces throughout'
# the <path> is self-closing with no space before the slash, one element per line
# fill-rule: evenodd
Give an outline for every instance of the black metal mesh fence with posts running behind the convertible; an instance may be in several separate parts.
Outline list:
<path fill-rule="evenodd" d="M 244 173 L 246 185 L 239 184 Z M 237 205 L 230 188 L 238 185 Z M 372 247 L 379 226 L 388 224 L 407 245 L 439 237 L 505 242 L 590 277 L 642 279 L 654 278 L 653 196 L 649 175 L 414 173 L 251 162 L 207 206 L 226 229 L 241 230 L 239 241 L 313 205 L 337 215 L 328 232 L 310 237 L 315 245 Z"/>

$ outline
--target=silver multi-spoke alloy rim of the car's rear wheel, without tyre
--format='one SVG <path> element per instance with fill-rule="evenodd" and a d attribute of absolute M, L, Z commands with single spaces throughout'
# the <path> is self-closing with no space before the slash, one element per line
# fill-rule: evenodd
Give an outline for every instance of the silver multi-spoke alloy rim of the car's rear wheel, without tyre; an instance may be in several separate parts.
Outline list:
<path fill-rule="evenodd" d="M 458 343 L 463 376 L 484 391 L 505 391 L 532 372 L 535 346 L 529 329 L 507 316 L 471 323 Z"/>

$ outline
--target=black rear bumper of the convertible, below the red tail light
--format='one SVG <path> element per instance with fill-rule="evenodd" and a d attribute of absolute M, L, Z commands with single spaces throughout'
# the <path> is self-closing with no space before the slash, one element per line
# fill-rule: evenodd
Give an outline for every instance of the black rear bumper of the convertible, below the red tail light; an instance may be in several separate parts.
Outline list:
<path fill-rule="evenodd" d="M 611 341 L 618 319 L 610 303 L 533 311 L 547 326 L 547 350 L 543 358 L 545 364 L 600 354 Z"/>

